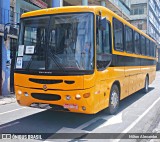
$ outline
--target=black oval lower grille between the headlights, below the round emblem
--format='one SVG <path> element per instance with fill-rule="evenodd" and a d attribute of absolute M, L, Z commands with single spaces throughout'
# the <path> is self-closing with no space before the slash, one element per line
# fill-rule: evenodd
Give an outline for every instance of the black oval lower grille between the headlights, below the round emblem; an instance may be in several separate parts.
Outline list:
<path fill-rule="evenodd" d="M 58 101 L 61 99 L 61 96 L 57 94 L 40 94 L 40 93 L 32 93 L 31 96 L 38 100 L 45 101 Z"/>

